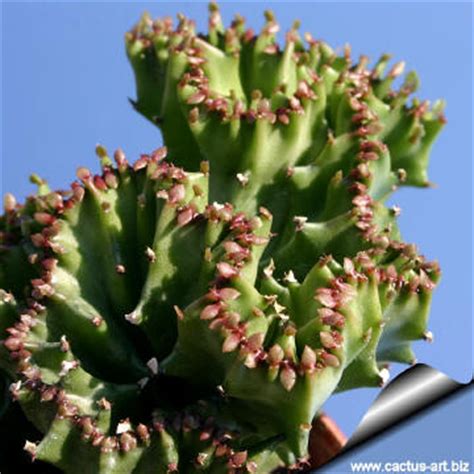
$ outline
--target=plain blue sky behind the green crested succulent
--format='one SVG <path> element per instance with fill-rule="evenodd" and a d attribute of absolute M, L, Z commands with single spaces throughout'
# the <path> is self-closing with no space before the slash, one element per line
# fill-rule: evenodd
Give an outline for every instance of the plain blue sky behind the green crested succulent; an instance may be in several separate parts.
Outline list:
<path fill-rule="evenodd" d="M 5 3 L 2 18 L 1 192 L 21 200 L 36 171 L 65 187 L 79 165 L 97 169 L 96 143 L 122 147 L 133 159 L 161 143 L 157 129 L 128 103 L 134 81 L 124 32 L 144 10 L 153 16 L 184 12 L 207 27 L 205 3 Z M 333 47 L 352 45 L 353 56 L 384 52 L 418 71 L 418 95 L 448 102 L 448 125 L 435 144 L 430 178 L 437 189 L 403 189 L 399 204 L 405 240 L 438 259 L 431 345 L 417 343 L 418 359 L 467 382 L 472 374 L 471 101 L 472 6 L 468 3 L 222 2 L 257 30 L 271 7 L 282 31 L 298 17 Z M 395 367 L 394 373 L 400 368 Z M 351 433 L 376 396 L 358 390 L 332 397 L 327 410 Z"/>

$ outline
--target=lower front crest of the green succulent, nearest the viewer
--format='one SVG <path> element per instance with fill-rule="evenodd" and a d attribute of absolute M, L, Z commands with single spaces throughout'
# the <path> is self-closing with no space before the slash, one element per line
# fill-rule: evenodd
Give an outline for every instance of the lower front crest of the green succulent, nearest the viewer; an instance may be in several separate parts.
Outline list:
<path fill-rule="evenodd" d="M 76 452 L 99 472 L 146 472 L 156 452 L 168 470 L 195 456 L 219 472 L 239 465 L 241 452 L 255 472 L 303 465 L 306 427 L 334 390 L 379 385 L 382 364 L 411 361 L 438 274 L 411 246 L 389 241 L 341 264 L 324 257 L 309 271 L 297 261 L 296 273 L 262 271 L 273 237 L 267 209 L 247 217 L 207 204 L 209 175 L 169 164 L 164 149 L 133 166 L 118 151 L 116 168 L 100 151 L 102 174 L 79 168 L 70 192 L 34 196 L 5 215 L 18 237 L 5 237 L 4 267 L 13 252 L 34 278 L 19 277 L 22 291 L 6 281 L 0 360 L 16 380 L 14 399 L 45 433 L 28 445 L 36 458 L 68 472 L 80 466 L 64 453 Z M 371 198 L 357 196 L 364 214 Z M 316 224 L 296 225 L 309 242 L 324 241 Z M 299 260 L 320 253 L 302 248 Z M 159 393 L 170 377 L 221 407 L 219 426 L 236 430 L 224 454 L 215 443 L 186 447 L 174 419 L 161 430 L 143 419 L 142 404 L 169 405 Z M 134 420 L 125 431 L 124 419 Z"/>

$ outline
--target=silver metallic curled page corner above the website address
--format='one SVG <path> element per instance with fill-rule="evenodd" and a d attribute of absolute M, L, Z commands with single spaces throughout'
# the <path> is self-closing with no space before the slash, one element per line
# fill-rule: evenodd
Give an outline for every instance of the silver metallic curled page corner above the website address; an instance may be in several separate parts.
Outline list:
<path fill-rule="evenodd" d="M 382 390 L 348 442 L 328 463 L 346 456 L 363 443 L 468 387 L 472 382 L 456 382 L 425 364 L 410 367 Z M 328 463 L 311 472 L 322 472 L 321 468 Z"/>

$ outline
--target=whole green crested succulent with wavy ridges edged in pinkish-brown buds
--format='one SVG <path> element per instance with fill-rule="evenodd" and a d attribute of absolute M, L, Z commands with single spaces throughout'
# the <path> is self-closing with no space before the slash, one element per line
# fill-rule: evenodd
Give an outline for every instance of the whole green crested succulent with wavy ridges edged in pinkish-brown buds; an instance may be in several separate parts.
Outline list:
<path fill-rule="evenodd" d="M 383 76 L 388 57 L 352 64 L 296 24 L 280 51 L 266 19 L 224 29 L 211 5 L 202 36 L 145 15 L 126 36 L 134 104 L 166 148 L 114 165 L 98 146 L 100 174 L 5 197 L 0 381 L 42 433 L 34 459 L 300 468 L 327 398 L 383 385 L 429 339 L 439 269 L 384 203 L 428 184 L 442 104 L 407 105 L 402 63 Z"/>

